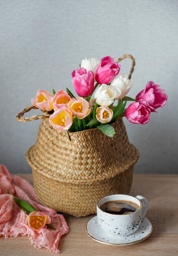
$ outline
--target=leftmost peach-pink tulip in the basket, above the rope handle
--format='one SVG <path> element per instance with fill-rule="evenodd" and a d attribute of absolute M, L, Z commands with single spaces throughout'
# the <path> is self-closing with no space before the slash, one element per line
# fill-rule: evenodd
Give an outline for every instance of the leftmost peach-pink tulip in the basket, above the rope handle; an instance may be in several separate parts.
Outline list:
<path fill-rule="evenodd" d="M 44 90 L 38 90 L 36 98 L 31 99 L 31 103 L 41 110 L 51 111 L 53 109 L 53 95 Z"/>

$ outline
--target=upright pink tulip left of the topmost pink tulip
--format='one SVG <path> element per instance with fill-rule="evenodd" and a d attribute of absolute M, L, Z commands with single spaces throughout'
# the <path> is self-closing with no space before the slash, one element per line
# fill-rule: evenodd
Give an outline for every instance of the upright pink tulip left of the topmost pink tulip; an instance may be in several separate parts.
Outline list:
<path fill-rule="evenodd" d="M 94 73 L 93 71 L 87 72 L 84 67 L 78 68 L 72 72 L 72 83 L 76 93 L 81 97 L 87 97 L 93 92 L 94 88 Z"/>

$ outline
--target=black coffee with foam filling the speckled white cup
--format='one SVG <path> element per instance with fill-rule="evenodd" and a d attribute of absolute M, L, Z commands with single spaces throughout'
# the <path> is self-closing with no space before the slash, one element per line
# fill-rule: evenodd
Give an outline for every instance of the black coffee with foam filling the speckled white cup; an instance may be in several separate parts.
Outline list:
<path fill-rule="evenodd" d="M 101 204 L 100 206 L 100 209 L 102 211 L 119 215 L 131 214 L 134 211 L 138 210 L 138 208 L 138 204 L 124 200 L 108 201 L 104 204 Z"/>

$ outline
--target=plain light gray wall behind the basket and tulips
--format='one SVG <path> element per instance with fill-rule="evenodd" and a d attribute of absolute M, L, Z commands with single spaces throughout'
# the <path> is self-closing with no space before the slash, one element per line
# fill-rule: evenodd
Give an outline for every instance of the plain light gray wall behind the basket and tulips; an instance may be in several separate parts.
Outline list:
<path fill-rule="evenodd" d="M 82 58 L 129 53 L 136 58 L 129 96 L 153 80 L 169 97 L 145 126 L 125 119 L 140 151 L 135 173 L 178 173 L 177 32 L 177 0 L 0 0 L 0 162 L 11 173 L 31 171 L 24 154 L 40 121 L 15 117 L 38 88 L 74 92 L 71 72 Z M 120 74 L 130 66 L 123 61 Z"/>

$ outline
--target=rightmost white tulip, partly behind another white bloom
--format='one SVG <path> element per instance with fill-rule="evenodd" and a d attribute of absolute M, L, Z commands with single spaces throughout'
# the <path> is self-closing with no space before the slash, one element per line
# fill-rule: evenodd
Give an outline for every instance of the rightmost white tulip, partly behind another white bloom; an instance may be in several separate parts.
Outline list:
<path fill-rule="evenodd" d="M 121 94 L 116 99 L 123 99 L 125 95 L 129 92 L 133 85 L 133 80 L 128 78 L 126 75 L 120 75 L 118 78 L 114 79 L 112 84 L 113 87 L 117 87 Z"/>

